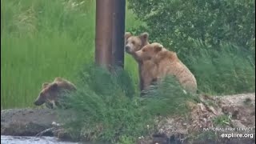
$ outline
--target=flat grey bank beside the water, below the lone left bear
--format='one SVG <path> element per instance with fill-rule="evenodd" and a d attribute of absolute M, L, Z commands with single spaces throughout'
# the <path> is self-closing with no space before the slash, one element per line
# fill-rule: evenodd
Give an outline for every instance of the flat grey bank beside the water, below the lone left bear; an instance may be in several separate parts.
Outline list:
<path fill-rule="evenodd" d="M 56 112 L 49 109 L 1 110 L 1 135 L 35 136 L 49 129 L 56 121 Z M 53 134 L 46 133 L 46 136 Z"/>

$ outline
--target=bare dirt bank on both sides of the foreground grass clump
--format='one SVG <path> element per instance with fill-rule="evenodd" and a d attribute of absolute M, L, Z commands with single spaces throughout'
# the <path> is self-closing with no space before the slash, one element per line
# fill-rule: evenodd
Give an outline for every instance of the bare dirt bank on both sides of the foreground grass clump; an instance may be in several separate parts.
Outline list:
<path fill-rule="evenodd" d="M 139 139 L 138 143 L 255 143 L 255 93 L 202 95 L 200 98 L 200 103 L 190 104 L 190 113 L 186 117 L 157 118 L 157 131 Z M 53 122 L 58 122 L 54 110 L 2 110 L 1 134 L 35 136 L 53 128 Z M 54 130 L 42 135 L 62 137 L 63 134 L 54 133 Z M 247 138 L 222 138 L 222 134 L 231 133 L 247 134 Z M 66 137 L 64 135 L 62 138 Z"/>

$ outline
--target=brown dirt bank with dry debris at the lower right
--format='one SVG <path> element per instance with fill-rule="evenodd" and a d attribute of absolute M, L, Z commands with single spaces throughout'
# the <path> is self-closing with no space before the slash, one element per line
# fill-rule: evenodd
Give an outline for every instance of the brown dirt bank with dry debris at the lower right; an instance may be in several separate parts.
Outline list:
<path fill-rule="evenodd" d="M 138 143 L 255 143 L 255 93 L 200 99 L 186 117 L 158 118 L 158 132 Z"/>

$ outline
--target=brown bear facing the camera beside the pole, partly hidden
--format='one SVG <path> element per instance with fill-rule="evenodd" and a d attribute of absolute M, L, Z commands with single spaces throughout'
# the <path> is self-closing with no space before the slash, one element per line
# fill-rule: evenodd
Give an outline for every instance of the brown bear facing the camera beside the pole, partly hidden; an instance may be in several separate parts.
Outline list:
<path fill-rule="evenodd" d="M 126 32 L 125 34 L 125 49 L 126 53 L 131 54 L 134 57 L 134 53 L 138 50 L 141 50 L 143 46 L 150 44 L 148 42 L 149 34 L 142 33 L 138 36 Z M 135 60 L 138 62 L 138 74 L 139 74 L 139 87 L 140 90 L 145 90 L 148 87 L 149 83 L 154 82 L 156 78 L 153 77 L 154 73 L 154 62 L 151 61 L 140 61 L 136 57 Z"/>

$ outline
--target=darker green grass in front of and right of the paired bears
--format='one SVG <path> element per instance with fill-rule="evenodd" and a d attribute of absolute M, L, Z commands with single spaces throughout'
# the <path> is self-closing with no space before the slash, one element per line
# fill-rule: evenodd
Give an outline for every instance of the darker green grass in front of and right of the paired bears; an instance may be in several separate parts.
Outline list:
<path fill-rule="evenodd" d="M 198 54 L 186 54 L 186 58 L 178 54 L 195 74 L 200 92 L 235 94 L 255 90 L 255 68 L 250 54 L 227 44 L 220 50 L 205 48 L 198 45 Z M 59 111 L 73 138 L 135 143 L 139 136 L 152 134 L 157 116 L 182 114 L 188 118 L 187 102 L 200 102 L 197 94 L 184 94 L 171 77 L 150 86 L 146 95 L 139 97 L 131 74 L 134 73 L 110 74 L 94 66 L 82 70 L 78 91 L 64 98 L 70 109 Z M 66 114 L 72 117 L 66 118 Z"/>

